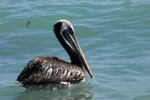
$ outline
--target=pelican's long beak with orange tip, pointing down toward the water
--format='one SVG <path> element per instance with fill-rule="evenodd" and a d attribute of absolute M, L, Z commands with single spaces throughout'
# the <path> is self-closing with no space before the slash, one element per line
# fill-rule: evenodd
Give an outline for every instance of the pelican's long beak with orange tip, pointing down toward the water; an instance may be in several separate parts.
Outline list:
<path fill-rule="evenodd" d="M 65 32 L 63 32 L 63 36 L 66 39 L 66 42 L 68 43 L 68 45 L 71 46 L 71 48 L 78 54 L 82 64 L 84 65 L 85 69 L 87 70 L 87 72 L 89 73 L 90 77 L 93 78 L 92 72 L 90 71 L 90 68 L 87 64 L 87 61 L 84 57 L 84 54 L 79 46 L 79 43 L 76 39 L 76 36 L 74 34 L 74 32 L 72 31 L 68 31 L 66 30 Z"/>

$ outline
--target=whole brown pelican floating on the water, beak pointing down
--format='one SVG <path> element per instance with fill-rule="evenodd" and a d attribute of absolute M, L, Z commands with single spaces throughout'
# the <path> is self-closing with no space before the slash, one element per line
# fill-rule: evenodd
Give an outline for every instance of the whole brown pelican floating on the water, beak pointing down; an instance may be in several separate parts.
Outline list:
<path fill-rule="evenodd" d="M 72 24 L 67 20 L 59 20 L 54 24 L 54 33 L 70 56 L 71 63 L 52 56 L 33 58 L 17 78 L 22 86 L 38 87 L 38 89 L 71 87 L 85 80 L 84 68 L 91 78 L 93 77 Z"/>

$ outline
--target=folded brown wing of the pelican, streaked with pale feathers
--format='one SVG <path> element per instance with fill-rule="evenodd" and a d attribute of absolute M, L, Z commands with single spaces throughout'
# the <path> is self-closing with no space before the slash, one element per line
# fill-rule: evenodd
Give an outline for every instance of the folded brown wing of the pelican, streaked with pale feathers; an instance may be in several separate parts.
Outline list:
<path fill-rule="evenodd" d="M 51 56 L 32 59 L 18 76 L 23 84 L 79 82 L 85 77 L 83 69 Z"/>

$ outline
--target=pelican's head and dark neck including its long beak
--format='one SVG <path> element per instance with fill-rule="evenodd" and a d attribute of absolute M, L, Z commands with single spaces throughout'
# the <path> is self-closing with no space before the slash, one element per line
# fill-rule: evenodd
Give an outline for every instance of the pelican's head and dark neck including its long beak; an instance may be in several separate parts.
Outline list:
<path fill-rule="evenodd" d="M 72 24 L 67 20 L 59 20 L 54 24 L 54 32 L 61 45 L 68 52 L 73 64 L 84 66 L 91 78 L 93 77 L 83 52 L 75 36 Z"/>

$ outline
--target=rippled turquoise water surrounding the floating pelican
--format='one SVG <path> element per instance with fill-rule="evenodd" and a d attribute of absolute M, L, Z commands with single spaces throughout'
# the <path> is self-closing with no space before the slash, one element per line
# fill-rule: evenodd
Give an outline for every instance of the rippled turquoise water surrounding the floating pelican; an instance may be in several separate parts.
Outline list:
<path fill-rule="evenodd" d="M 16 87 L 26 63 L 39 55 L 69 60 L 53 33 L 72 22 L 94 78 L 69 89 Z M 29 28 L 26 28 L 30 21 Z M 150 100 L 149 0 L 3 0 L 0 3 L 0 99 Z"/>

